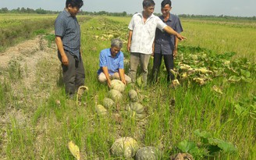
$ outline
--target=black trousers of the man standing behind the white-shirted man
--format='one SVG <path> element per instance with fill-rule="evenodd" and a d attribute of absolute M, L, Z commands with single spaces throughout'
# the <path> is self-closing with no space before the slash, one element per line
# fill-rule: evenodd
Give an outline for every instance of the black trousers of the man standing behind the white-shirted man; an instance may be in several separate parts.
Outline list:
<path fill-rule="evenodd" d="M 173 69 L 173 55 L 162 55 L 162 53 L 154 53 L 154 64 L 152 69 L 153 81 L 157 81 L 159 68 L 162 63 L 162 56 L 164 57 L 165 68 L 167 70 L 167 82 L 174 80 L 173 74 L 170 72 L 170 69 Z"/>

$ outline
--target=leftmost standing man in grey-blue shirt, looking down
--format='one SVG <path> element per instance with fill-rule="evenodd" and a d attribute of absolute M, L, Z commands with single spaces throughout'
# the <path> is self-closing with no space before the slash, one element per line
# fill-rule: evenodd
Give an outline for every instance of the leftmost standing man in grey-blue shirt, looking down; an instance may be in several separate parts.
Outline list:
<path fill-rule="evenodd" d="M 80 49 L 80 26 L 76 14 L 84 5 L 82 0 L 66 0 L 66 8 L 55 20 L 55 43 L 62 62 L 63 81 L 70 98 L 84 85 L 84 64 Z"/>

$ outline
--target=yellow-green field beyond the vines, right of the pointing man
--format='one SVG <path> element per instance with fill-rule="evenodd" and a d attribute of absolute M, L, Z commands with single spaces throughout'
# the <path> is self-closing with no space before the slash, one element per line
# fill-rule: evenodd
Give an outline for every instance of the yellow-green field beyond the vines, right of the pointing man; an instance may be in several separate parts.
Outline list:
<path fill-rule="evenodd" d="M 111 17 L 128 23 L 130 17 Z M 248 20 L 202 20 L 181 19 L 183 35 L 188 37 L 182 44 L 208 48 L 220 54 L 236 52 L 234 58 L 247 57 L 256 60 L 256 22 Z"/>

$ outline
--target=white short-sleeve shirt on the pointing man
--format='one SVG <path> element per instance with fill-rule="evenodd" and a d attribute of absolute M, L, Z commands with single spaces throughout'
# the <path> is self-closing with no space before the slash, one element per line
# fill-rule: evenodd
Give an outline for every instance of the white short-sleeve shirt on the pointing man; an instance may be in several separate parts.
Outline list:
<path fill-rule="evenodd" d="M 129 30 L 133 30 L 130 52 L 151 54 L 155 30 L 163 30 L 165 26 L 166 24 L 154 14 L 148 17 L 145 23 L 141 13 L 134 14 L 128 26 Z"/>

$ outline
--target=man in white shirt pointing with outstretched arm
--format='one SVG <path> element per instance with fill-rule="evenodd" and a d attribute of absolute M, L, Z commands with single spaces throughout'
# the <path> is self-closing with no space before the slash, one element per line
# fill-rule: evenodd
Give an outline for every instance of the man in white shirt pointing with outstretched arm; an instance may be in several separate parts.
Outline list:
<path fill-rule="evenodd" d="M 143 11 L 133 15 L 129 23 L 129 37 L 127 50 L 130 52 L 129 76 L 132 82 L 136 80 L 137 66 L 142 69 L 142 80 L 147 84 L 148 62 L 153 54 L 153 42 L 155 40 L 155 30 L 165 30 L 168 34 L 175 35 L 181 41 L 186 37 L 181 36 L 171 27 L 167 26 L 162 20 L 153 14 L 155 2 L 144 0 L 142 2 Z"/>

